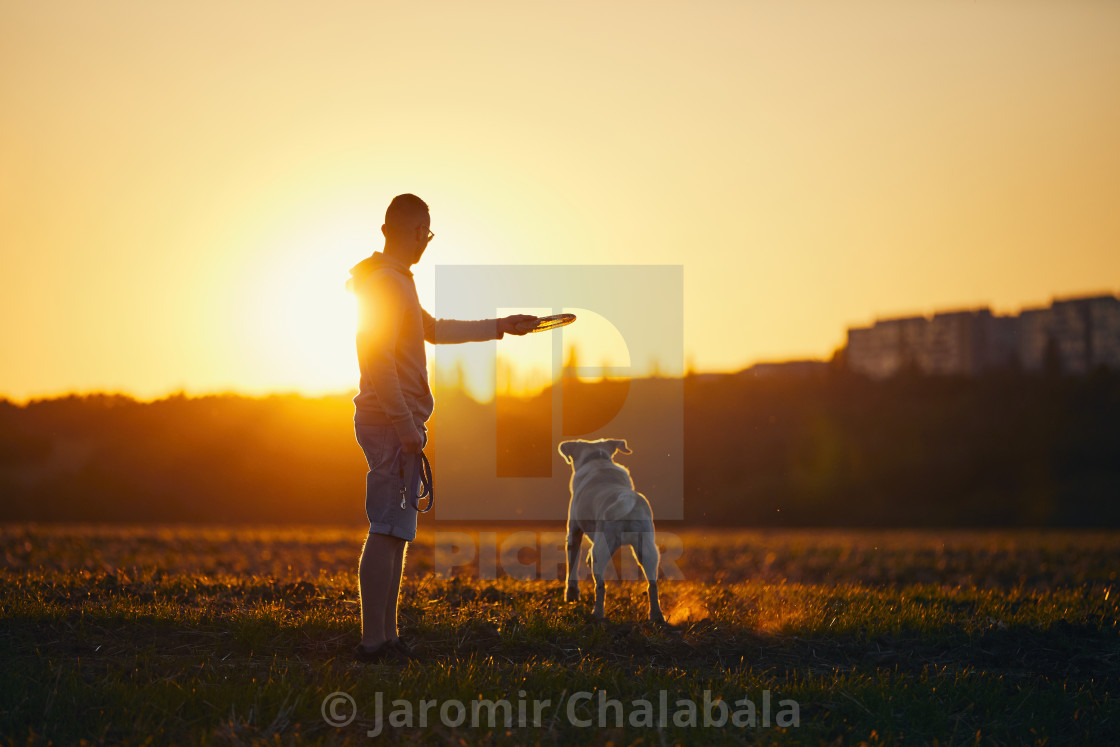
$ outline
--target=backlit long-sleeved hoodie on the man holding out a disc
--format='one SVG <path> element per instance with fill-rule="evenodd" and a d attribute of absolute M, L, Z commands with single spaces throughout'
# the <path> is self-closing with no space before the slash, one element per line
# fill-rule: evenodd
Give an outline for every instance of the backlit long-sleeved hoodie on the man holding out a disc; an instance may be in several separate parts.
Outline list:
<path fill-rule="evenodd" d="M 436 402 L 428 385 L 424 340 L 435 344 L 501 339 L 497 319 L 436 319 L 420 307 L 409 267 L 375 252 L 351 269 L 346 288 L 358 300 L 357 362 L 362 372 L 354 422 L 389 426 L 404 435 L 424 429 Z"/>

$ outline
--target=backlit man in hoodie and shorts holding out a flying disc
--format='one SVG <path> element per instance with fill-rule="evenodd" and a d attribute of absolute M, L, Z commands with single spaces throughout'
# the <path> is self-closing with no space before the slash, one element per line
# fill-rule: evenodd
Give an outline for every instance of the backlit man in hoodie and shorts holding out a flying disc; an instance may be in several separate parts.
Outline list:
<path fill-rule="evenodd" d="M 398 633 L 396 611 L 405 547 L 417 533 L 417 510 L 401 507 L 398 469 L 402 465 L 395 463 L 403 460 L 404 474 L 411 475 L 413 460 L 428 440 L 424 423 L 435 400 L 428 385 L 424 340 L 468 343 L 524 335 L 536 317 L 432 318 L 420 307 L 409 269 L 435 237 L 428 205 L 416 195 L 394 197 L 381 232 L 384 250 L 351 269 L 346 283 L 358 299 L 362 379 L 354 398 L 354 431 L 368 466 L 365 513 L 370 533 L 358 561 L 362 641 L 354 656 L 363 662 L 400 662 L 412 657 L 411 647 Z"/>

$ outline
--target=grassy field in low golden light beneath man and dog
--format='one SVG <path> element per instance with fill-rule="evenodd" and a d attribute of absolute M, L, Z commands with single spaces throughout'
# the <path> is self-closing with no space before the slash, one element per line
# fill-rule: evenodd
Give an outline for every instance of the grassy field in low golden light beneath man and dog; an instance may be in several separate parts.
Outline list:
<path fill-rule="evenodd" d="M 612 622 L 597 625 L 589 581 L 566 605 L 558 580 L 436 576 L 422 533 L 402 627 L 426 661 L 401 669 L 349 661 L 361 531 L 2 527 L 0 738 L 335 745 L 380 728 L 377 740 L 408 744 L 1120 744 L 1120 535 L 678 536 L 683 578 L 661 586 L 680 629 L 665 632 L 643 622 L 641 583 L 610 585 Z M 342 728 L 323 716 L 336 691 L 356 704 Z M 598 691 L 619 706 L 600 708 Z M 656 710 L 662 691 L 666 723 L 629 726 L 643 718 L 633 701 Z M 756 725 L 704 727 L 706 691 L 740 716 L 735 701 L 749 699 Z M 579 692 L 594 693 L 573 706 L 591 727 L 569 718 Z M 389 723 L 394 699 L 413 708 L 411 728 Z M 514 725 L 488 726 L 486 708 L 477 728 L 441 722 L 448 701 L 469 712 L 479 699 L 508 700 Z M 679 699 L 696 703 L 696 727 L 674 723 Z M 423 728 L 421 700 L 437 701 Z M 540 726 L 519 726 L 533 700 L 551 701 Z M 776 726 L 780 701 L 797 703 L 799 726 Z"/>

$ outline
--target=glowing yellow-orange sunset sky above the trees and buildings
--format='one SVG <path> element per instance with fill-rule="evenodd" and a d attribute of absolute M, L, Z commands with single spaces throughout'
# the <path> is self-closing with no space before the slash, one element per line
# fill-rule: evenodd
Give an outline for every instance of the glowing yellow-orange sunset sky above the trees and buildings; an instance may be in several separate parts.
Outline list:
<path fill-rule="evenodd" d="M 682 265 L 701 371 L 1114 293 L 1118 91 L 1113 0 L 0 0 L 0 394 L 356 386 L 402 192 L 429 309 L 441 263 Z"/>

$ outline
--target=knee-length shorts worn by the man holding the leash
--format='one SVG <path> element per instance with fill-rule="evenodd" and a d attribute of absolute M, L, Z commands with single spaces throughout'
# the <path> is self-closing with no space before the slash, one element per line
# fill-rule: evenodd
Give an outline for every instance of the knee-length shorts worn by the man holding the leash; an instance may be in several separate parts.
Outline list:
<path fill-rule="evenodd" d="M 428 442 L 428 435 L 420 431 Z M 354 436 L 365 452 L 365 517 L 370 520 L 370 534 L 389 534 L 405 542 L 417 539 L 417 510 L 412 505 L 401 508 L 401 478 L 393 469 L 393 459 L 401 448 L 401 439 L 392 426 L 354 424 Z M 412 474 L 414 454 L 405 457 L 404 474 Z M 411 502 L 410 502 L 411 503 Z"/>

